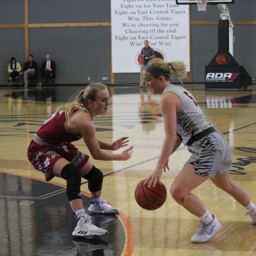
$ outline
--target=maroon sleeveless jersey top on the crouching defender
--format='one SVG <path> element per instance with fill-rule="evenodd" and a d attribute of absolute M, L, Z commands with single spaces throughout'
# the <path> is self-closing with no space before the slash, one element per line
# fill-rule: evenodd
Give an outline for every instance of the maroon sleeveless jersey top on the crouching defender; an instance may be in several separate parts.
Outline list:
<path fill-rule="evenodd" d="M 79 111 L 81 110 L 74 109 L 72 114 L 74 115 Z M 84 109 L 84 111 L 89 113 L 87 109 Z M 36 135 L 51 145 L 61 145 L 82 138 L 81 134 L 72 133 L 67 129 L 67 119 L 65 112 L 62 110 L 52 114 L 42 124 Z"/>

